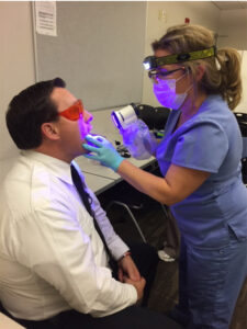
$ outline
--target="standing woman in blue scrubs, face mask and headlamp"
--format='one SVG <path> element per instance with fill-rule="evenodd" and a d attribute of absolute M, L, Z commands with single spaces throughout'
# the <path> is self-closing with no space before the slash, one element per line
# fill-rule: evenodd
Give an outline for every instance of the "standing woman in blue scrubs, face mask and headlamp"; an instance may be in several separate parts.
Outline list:
<path fill-rule="evenodd" d="M 211 31 L 190 24 L 170 27 L 153 44 L 154 92 L 172 109 L 156 148 L 162 178 L 121 158 L 105 139 L 88 137 L 96 147 L 83 145 L 87 157 L 170 206 L 181 232 L 173 317 L 190 329 L 227 329 L 247 276 L 243 141 L 231 112 L 240 100 L 240 61 L 236 50 L 214 46 Z"/>

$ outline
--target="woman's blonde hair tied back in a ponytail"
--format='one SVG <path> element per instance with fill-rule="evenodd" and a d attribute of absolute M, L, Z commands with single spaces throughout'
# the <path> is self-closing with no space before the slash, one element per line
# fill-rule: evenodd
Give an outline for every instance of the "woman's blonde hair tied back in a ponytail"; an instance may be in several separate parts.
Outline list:
<path fill-rule="evenodd" d="M 216 34 L 201 25 L 182 24 L 172 26 L 159 39 L 153 49 L 167 49 L 171 54 L 197 52 L 215 46 Z M 181 63 L 189 67 L 195 81 L 198 65 L 203 65 L 205 72 L 199 83 L 207 94 L 220 93 L 234 110 L 242 98 L 240 55 L 236 49 L 222 48 L 216 56 Z M 195 82 L 194 82 L 195 83 Z"/>

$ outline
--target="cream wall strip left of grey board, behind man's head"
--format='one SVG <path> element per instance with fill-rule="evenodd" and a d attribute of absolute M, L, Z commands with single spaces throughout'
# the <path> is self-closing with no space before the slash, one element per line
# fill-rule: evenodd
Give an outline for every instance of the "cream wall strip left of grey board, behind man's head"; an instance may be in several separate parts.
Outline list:
<path fill-rule="evenodd" d="M 0 161 L 16 155 L 5 127 L 5 111 L 14 94 L 34 83 L 30 2 L 0 2 Z"/>

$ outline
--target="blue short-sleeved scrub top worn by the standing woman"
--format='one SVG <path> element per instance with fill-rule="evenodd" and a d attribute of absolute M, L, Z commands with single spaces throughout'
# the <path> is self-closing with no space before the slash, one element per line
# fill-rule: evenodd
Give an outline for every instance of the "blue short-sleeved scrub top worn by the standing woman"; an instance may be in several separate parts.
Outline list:
<path fill-rule="evenodd" d="M 198 113 L 176 132 L 179 110 L 168 118 L 157 148 L 160 171 L 171 163 L 211 172 L 189 197 L 171 212 L 188 242 L 205 248 L 227 245 L 228 229 L 247 237 L 247 189 L 242 181 L 243 139 L 238 123 L 221 95 L 210 95 Z"/>

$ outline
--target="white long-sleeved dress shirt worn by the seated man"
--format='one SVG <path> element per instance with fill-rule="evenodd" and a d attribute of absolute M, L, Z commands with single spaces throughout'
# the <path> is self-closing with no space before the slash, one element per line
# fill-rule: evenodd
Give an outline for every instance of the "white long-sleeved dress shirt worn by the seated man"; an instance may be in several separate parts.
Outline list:
<path fill-rule="evenodd" d="M 117 260 L 128 248 L 88 192 Z M 102 240 L 72 184 L 70 166 L 40 152 L 22 152 L 0 192 L 0 300 L 5 309 L 30 320 L 70 308 L 103 317 L 136 299 L 134 286 L 112 277 Z"/>

